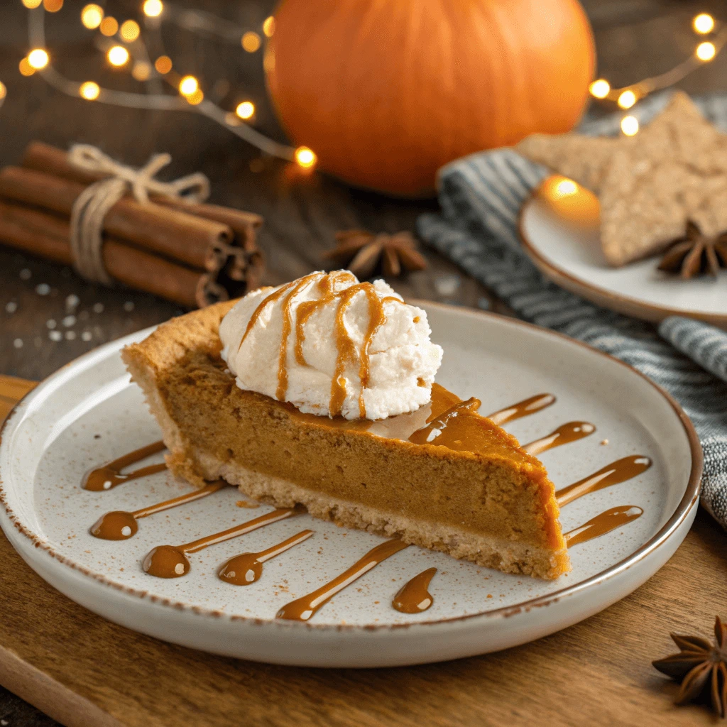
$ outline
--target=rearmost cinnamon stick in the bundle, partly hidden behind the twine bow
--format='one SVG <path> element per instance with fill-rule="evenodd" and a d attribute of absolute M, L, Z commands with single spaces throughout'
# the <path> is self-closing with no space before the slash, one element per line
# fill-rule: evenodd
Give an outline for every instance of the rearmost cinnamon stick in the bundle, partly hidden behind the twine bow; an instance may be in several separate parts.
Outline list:
<path fill-rule="evenodd" d="M 87 172 L 73 166 L 68 161 L 68 154 L 63 150 L 40 141 L 33 141 L 28 144 L 23 154 L 21 164 L 27 169 L 35 169 L 38 172 L 53 174 L 55 177 L 89 185 L 102 180 L 104 175 L 99 172 Z M 182 212 L 196 214 L 207 220 L 221 222 L 228 225 L 238 241 L 246 250 L 254 247 L 254 231 L 262 225 L 262 217 L 253 212 L 244 212 L 241 209 L 222 207 L 217 204 L 190 204 L 179 199 L 172 199 L 161 195 L 152 195 L 152 201 L 156 204 L 174 207 Z M 251 234 L 252 233 L 252 234 Z"/>

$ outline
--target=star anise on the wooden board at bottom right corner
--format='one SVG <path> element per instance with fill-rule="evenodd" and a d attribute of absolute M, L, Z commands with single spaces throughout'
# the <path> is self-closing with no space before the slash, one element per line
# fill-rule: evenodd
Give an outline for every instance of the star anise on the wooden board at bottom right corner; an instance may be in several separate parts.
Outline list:
<path fill-rule="evenodd" d="M 727 712 L 727 625 L 717 616 L 715 643 L 701 636 L 671 634 L 681 649 L 678 654 L 651 662 L 672 679 L 681 682 L 676 704 L 686 704 L 709 691 L 712 707 L 724 718 Z"/>

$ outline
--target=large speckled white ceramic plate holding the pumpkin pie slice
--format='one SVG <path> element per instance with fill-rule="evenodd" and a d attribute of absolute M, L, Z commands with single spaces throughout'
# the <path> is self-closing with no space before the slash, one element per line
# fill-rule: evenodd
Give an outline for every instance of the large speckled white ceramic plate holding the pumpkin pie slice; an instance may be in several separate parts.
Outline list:
<path fill-rule="evenodd" d="M 17 406 L 0 445 L 0 524 L 25 561 L 74 601 L 131 629 L 217 654 L 308 666 L 382 667 L 515 646 L 601 611 L 666 561 L 696 513 L 702 455 L 678 406 L 630 367 L 578 342 L 507 318 L 422 304 L 445 356 L 438 380 L 476 395 L 483 413 L 537 393 L 553 406 L 507 425 L 523 442 L 581 419 L 597 431 L 542 454 L 557 487 L 628 455 L 651 457 L 643 474 L 561 510 L 564 531 L 618 505 L 635 521 L 571 548 L 573 571 L 555 582 L 518 577 L 417 547 L 393 555 L 336 595 L 308 622 L 275 619 L 278 608 L 345 570 L 381 538 L 300 515 L 190 555 L 189 574 L 142 571 L 150 548 L 188 542 L 268 512 L 236 507 L 223 489 L 139 521 L 137 535 L 89 534 L 108 510 L 135 510 L 190 490 L 163 472 L 105 492 L 81 489 L 84 472 L 159 438 L 140 391 L 105 345 L 65 366 Z M 603 443 L 604 441 L 608 443 Z M 158 461 L 161 454 L 156 455 Z M 236 587 L 217 579 L 233 555 L 257 552 L 310 528 L 313 537 Z M 435 566 L 433 606 L 416 615 L 391 606 L 414 574 Z"/>

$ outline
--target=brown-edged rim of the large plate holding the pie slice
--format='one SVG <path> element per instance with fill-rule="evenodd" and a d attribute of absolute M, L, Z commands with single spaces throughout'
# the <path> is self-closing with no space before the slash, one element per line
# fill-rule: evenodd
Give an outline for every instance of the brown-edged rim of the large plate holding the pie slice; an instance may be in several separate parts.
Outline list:
<path fill-rule="evenodd" d="M 526 323 L 525 321 L 519 321 L 516 318 L 508 318 L 506 316 L 500 316 L 497 313 L 488 313 L 486 311 L 479 311 L 479 310 L 467 310 L 451 305 L 446 305 L 443 303 L 435 303 L 427 300 L 410 300 L 413 305 L 419 305 L 422 308 L 438 308 L 440 310 L 449 310 L 451 312 L 455 312 L 458 315 L 465 315 L 465 316 L 471 316 L 472 318 L 478 318 L 479 316 L 486 316 L 489 318 L 497 319 L 497 321 L 501 324 L 507 325 L 513 325 L 513 326 L 523 326 L 525 328 L 532 329 L 533 331 L 537 331 L 541 334 L 547 334 L 549 336 L 557 337 L 564 342 L 567 342 L 570 345 L 577 345 L 579 347 L 585 348 L 589 350 L 591 353 L 598 354 L 598 356 L 603 356 L 603 358 L 608 359 L 609 361 L 613 362 L 614 364 L 619 364 L 619 366 L 624 366 L 625 369 L 628 369 L 632 374 L 636 374 L 640 379 L 643 379 L 644 382 L 647 382 L 648 385 L 651 387 L 654 387 L 654 389 L 662 395 L 664 399 L 666 399 L 667 403 L 669 403 L 671 409 L 675 412 L 676 416 L 678 417 L 681 425 L 683 426 L 683 429 L 686 433 L 689 449 L 691 452 L 691 469 L 690 474 L 688 478 L 688 483 L 686 486 L 686 491 L 683 494 L 682 499 L 680 500 L 679 504 L 675 508 L 674 513 L 670 516 L 670 518 L 667 520 L 666 523 L 664 523 L 664 526 L 662 526 L 659 531 L 656 532 L 654 537 L 651 537 L 651 539 L 648 540 L 644 545 L 642 545 L 638 550 L 635 550 L 634 553 L 629 555 L 627 558 L 624 558 L 622 561 L 619 561 L 618 563 L 614 563 L 613 566 L 610 566 L 609 568 L 601 571 L 598 574 L 593 575 L 590 578 L 587 578 L 583 581 L 580 581 L 578 583 L 575 583 L 574 585 L 570 585 L 566 588 L 563 588 L 561 590 L 555 591 L 554 593 L 549 593 L 547 595 L 539 596 L 538 598 L 532 598 L 528 601 L 521 601 L 521 603 L 514 603 L 510 606 L 503 606 L 502 608 L 494 608 L 489 611 L 480 611 L 476 614 L 467 614 L 466 616 L 456 616 L 454 618 L 449 619 L 433 619 L 433 620 L 427 620 L 427 621 L 419 621 L 419 622 L 412 622 L 407 624 L 316 624 L 316 623 L 310 623 L 310 622 L 292 622 L 292 621 L 280 621 L 278 619 L 260 619 L 256 617 L 249 617 L 249 616 L 227 616 L 227 614 L 221 614 L 220 611 L 213 611 L 209 608 L 201 608 L 199 606 L 190 606 L 186 603 L 179 603 L 174 601 L 169 601 L 165 598 L 159 598 L 158 596 L 150 595 L 146 591 L 137 590 L 125 585 L 121 585 L 120 583 L 114 582 L 111 579 L 108 579 L 105 576 L 102 576 L 100 574 L 92 573 L 91 571 L 87 570 L 86 568 L 82 566 L 77 566 L 76 563 L 73 563 L 68 560 L 68 558 L 65 558 L 64 555 L 61 555 L 60 553 L 57 553 L 56 550 L 54 550 L 50 545 L 48 545 L 46 542 L 44 542 L 39 536 L 37 536 L 35 533 L 27 529 L 23 523 L 20 522 L 19 518 L 17 518 L 17 515 L 12 511 L 12 509 L 9 507 L 7 503 L 7 497 L 4 489 L 4 481 L 2 478 L 2 471 L 0 468 L 0 504 L 2 505 L 2 509 L 0 510 L 0 526 L 2 527 L 3 531 L 5 532 L 6 536 L 8 537 L 9 541 L 11 542 L 11 545 L 15 547 L 15 543 L 13 542 L 13 538 L 11 537 L 11 534 L 9 533 L 9 526 L 10 528 L 14 527 L 16 531 L 18 531 L 20 534 L 22 534 L 25 538 L 28 539 L 28 541 L 33 545 L 34 550 L 41 550 L 43 553 L 48 555 L 50 558 L 55 558 L 55 560 L 58 563 L 61 563 L 63 566 L 68 567 L 72 571 L 76 571 L 76 574 L 81 574 L 84 577 L 90 577 L 95 582 L 100 583 L 100 585 L 112 587 L 115 590 L 119 590 L 123 593 L 126 593 L 126 595 L 132 595 L 134 597 L 145 599 L 147 601 L 151 601 L 152 603 L 156 603 L 163 607 L 172 607 L 174 609 L 180 609 L 182 611 L 193 611 L 193 613 L 196 616 L 207 616 L 212 619 L 220 619 L 222 616 L 227 616 L 228 619 L 233 620 L 235 622 L 246 622 L 248 624 L 254 624 L 259 626 L 276 626 L 278 628 L 283 629 L 298 629 L 298 630 L 316 630 L 316 631 L 328 631 L 328 632 L 340 632 L 340 631 L 358 631 L 358 632 L 374 632 L 374 631 L 393 631 L 393 630 L 405 630 L 405 629 L 425 629 L 427 627 L 437 627 L 437 626 L 443 626 L 446 624 L 456 624 L 456 623 L 462 623 L 462 622 L 469 622 L 473 619 L 482 619 L 486 617 L 487 619 L 505 619 L 510 618 L 511 616 L 515 616 L 516 614 L 520 614 L 523 612 L 529 612 L 533 608 L 539 608 L 542 606 L 549 606 L 551 603 L 555 603 L 557 601 L 562 601 L 563 598 L 567 598 L 572 595 L 576 595 L 577 593 L 581 593 L 584 590 L 587 590 L 595 585 L 600 585 L 603 582 L 608 581 L 609 579 L 612 579 L 616 577 L 619 574 L 622 574 L 624 571 L 627 571 L 635 564 L 639 563 L 643 560 L 643 558 L 646 558 L 646 556 L 650 555 L 651 553 L 654 553 L 659 547 L 662 547 L 667 541 L 670 540 L 673 534 L 675 534 L 676 531 L 680 528 L 680 525 L 686 520 L 686 518 L 689 517 L 689 515 L 693 515 L 693 510 L 696 507 L 696 505 L 699 502 L 699 488 L 702 482 L 702 467 L 703 467 L 703 455 L 702 455 L 702 445 L 699 443 L 699 438 L 696 435 L 696 430 L 694 429 L 694 425 L 692 425 L 690 419 L 687 417 L 686 413 L 683 411 L 683 409 L 679 406 L 679 404 L 672 398 L 671 395 L 669 395 L 667 392 L 665 392 L 661 387 L 656 385 L 654 382 L 651 381 L 651 379 L 648 379 L 648 377 L 644 376 L 640 371 L 637 369 L 634 369 L 629 364 L 624 363 L 624 361 L 620 361 L 618 358 L 614 358 L 614 356 L 610 356 L 607 353 L 604 353 L 603 351 L 600 351 L 596 348 L 593 348 L 590 345 L 587 345 L 584 342 L 572 339 L 571 337 L 568 337 L 566 335 L 560 334 L 558 332 L 552 331 L 550 329 L 542 328 L 541 326 L 535 326 L 533 324 Z M 89 368 L 92 366 L 95 361 L 99 359 L 103 359 L 106 356 L 108 356 L 110 353 L 113 353 L 113 351 L 121 350 L 121 348 L 126 345 L 129 342 L 135 341 L 135 340 L 141 340 L 143 337 L 147 336 L 153 330 L 156 329 L 156 326 L 151 326 L 148 329 L 142 330 L 140 332 L 136 332 L 134 334 L 129 334 L 125 337 L 122 337 L 120 339 L 117 339 L 115 341 L 106 343 L 103 346 L 100 346 L 99 348 L 96 348 L 92 351 L 89 351 L 88 353 L 85 353 L 83 356 L 79 356 L 79 358 L 74 359 L 68 364 L 65 364 L 62 368 L 58 369 L 54 374 L 51 374 L 47 379 L 44 379 L 37 387 L 35 387 L 33 390 L 28 392 L 12 409 L 10 414 L 8 415 L 7 419 L 5 420 L 4 424 L 0 427 L 0 467 L 2 464 L 2 459 L 4 459 L 4 456 L 7 456 L 7 452 L 4 450 L 7 449 L 7 444 L 5 442 L 7 441 L 8 435 L 12 434 L 12 432 L 17 428 L 20 421 L 22 421 L 23 413 L 28 409 L 28 406 L 31 405 L 33 400 L 41 395 L 43 395 L 44 390 L 46 390 L 48 387 L 51 387 L 53 385 L 57 385 L 59 382 L 59 379 L 62 379 L 65 377 L 68 377 L 71 372 L 76 372 L 76 369 L 79 367 L 82 368 Z M 18 422 L 16 424 L 16 422 Z M 686 536 L 686 532 L 684 533 Z M 680 541 L 681 542 L 681 541 Z M 680 542 L 675 545 L 678 547 L 680 545 Z M 17 548 L 16 548 L 17 550 Z M 25 560 L 25 556 L 23 553 L 18 551 L 20 555 Z M 26 561 L 27 562 L 27 561 Z M 28 563 L 28 565 L 33 568 L 31 563 Z M 33 568 L 34 569 L 34 568 Z M 34 569 L 35 570 L 35 569 Z M 41 574 L 42 575 L 42 574 Z M 647 577 L 648 579 L 648 577 Z M 644 579 L 646 580 L 646 579 Z M 640 585 L 640 583 L 638 584 Z M 638 586 L 637 586 L 638 587 Z M 631 589 L 633 590 L 633 589 Z M 629 591 L 630 592 L 630 591 Z M 616 599 L 619 600 L 619 599 Z M 612 602 L 611 602 L 612 603 Z M 606 608 L 610 603 L 606 603 L 605 605 L 601 606 L 601 608 L 598 608 L 598 610 L 601 610 L 602 608 Z M 585 616 L 583 616 L 585 617 Z M 579 620 L 579 619 L 576 619 Z"/>

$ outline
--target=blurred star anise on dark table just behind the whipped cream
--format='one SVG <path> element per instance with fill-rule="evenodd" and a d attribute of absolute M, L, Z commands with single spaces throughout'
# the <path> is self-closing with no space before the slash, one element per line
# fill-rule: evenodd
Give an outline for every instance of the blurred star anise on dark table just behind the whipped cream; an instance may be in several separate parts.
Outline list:
<path fill-rule="evenodd" d="M 324 253 L 326 260 L 347 265 L 359 280 L 370 278 L 377 268 L 387 277 L 395 278 L 404 270 L 424 270 L 427 261 L 417 251 L 417 241 L 409 232 L 370 233 L 366 230 L 345 230 L 336 233 L 337 246 Z"/>

